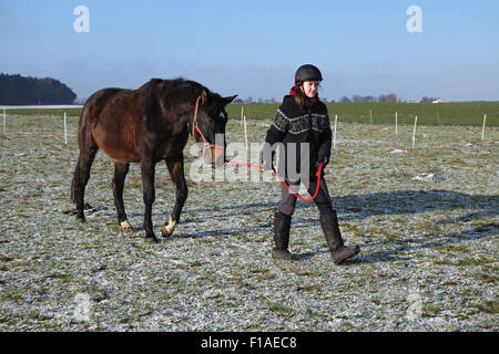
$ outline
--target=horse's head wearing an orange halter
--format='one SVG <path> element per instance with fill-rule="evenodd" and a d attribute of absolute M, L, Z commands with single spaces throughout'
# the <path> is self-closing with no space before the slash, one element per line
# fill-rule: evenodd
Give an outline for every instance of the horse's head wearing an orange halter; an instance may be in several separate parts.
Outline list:
<path fill-rule="evenodd" d="M 235 97 L 237 95 L 221 97 L 206 88 L 197 97 L 191 134 L 196 142 L 204 143 L 203 157 L 208 164 L 220 166 L 225 163 L 225 125 L 228 119 L 225 106 Z"/>

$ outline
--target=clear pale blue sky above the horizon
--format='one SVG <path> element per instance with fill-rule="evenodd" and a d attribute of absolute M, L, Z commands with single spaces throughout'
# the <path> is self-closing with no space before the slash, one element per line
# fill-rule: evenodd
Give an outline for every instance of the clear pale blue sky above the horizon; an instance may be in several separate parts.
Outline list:
<path fill-rule="evenodd" d="M 279 101 L 312 63 L 327 100 L 499 101 L 498 18 L 497 0 L 0 0 L 0 73 L 54 77 L 79 98 L 182 76 Z"/>

